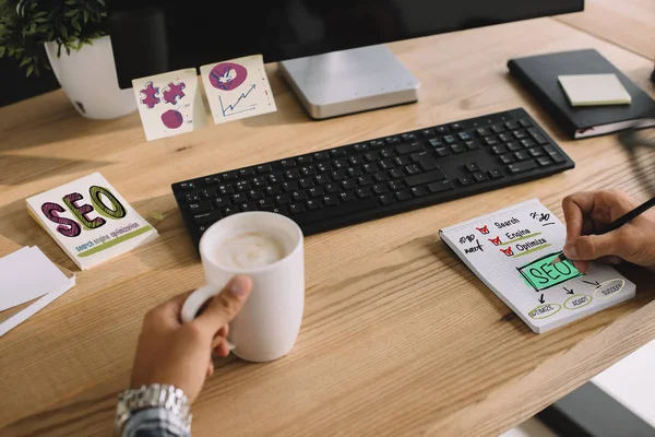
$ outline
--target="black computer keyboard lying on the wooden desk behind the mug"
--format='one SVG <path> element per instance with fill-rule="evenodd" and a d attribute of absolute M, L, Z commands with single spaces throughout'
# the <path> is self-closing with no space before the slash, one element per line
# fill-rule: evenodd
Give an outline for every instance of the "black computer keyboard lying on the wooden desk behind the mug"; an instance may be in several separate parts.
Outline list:
<path fill-rule="evenodd" d="M 522 108 L 172 185 L 193 243 L 216 221 L 272 211 L 305 235 L 543 178 L 573 161 Z"/>

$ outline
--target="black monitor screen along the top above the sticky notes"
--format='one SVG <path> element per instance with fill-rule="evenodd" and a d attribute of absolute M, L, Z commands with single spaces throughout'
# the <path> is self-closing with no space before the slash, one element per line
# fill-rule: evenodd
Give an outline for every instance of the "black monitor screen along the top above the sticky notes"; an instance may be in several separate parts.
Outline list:
<path fill-rule="evenodd" d="M 134 78 L 248 55 L 272 62 L 583 9 L 583 0 L 107 3 L 121 87 Z"/>

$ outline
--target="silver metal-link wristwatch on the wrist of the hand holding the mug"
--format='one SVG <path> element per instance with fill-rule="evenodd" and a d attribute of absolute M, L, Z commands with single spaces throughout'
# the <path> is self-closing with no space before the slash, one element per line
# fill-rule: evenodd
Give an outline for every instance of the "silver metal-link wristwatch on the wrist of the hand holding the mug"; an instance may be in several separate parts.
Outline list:
<path fill-rule="evenodd" d="M 134 412 L 143 409 L 165 409 L 178 416 L 191 430 L 192 415 L 189 411 L 189 399 L 184 392 L 172 386 L 153 383 L 138 389 L 126 390 L 118 395 L 115 430 L 120 435 L 122 428 Z"/>

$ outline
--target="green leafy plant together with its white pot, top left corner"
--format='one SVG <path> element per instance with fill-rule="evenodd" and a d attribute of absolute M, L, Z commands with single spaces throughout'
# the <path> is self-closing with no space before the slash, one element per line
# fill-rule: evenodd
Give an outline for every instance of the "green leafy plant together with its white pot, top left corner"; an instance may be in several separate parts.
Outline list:
<path fill-rule="evenodd" d="M 27 75 L 51 69 L 84 117 L 136 110 L 133 92 L 118 87 L 104 0 L 0 0 L 4 56 L 15 58 Z"/>

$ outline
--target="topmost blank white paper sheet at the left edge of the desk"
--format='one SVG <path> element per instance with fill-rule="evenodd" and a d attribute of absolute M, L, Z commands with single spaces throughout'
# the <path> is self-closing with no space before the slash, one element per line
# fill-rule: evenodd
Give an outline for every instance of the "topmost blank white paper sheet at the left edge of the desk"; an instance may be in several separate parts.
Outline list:
<path fill-rule="evenodd" d="M 69 282 L 39 248 L 24 247 L 0 258 L 0 311 L 59 291 Z"/>

